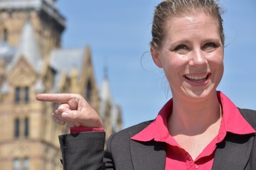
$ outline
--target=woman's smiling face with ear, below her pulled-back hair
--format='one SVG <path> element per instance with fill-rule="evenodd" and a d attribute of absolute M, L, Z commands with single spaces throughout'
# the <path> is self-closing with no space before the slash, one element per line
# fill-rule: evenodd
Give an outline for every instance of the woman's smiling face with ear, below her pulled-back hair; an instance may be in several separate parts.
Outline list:
<path fill-rule="evenodd" d="M 151 55 L 164 69 L 173 97 L 194 100 L 215 95 L 224 69 L 217 20 L 204 12 L 172 17 L 165 33 L 161 49 L 151 48 Z"/>

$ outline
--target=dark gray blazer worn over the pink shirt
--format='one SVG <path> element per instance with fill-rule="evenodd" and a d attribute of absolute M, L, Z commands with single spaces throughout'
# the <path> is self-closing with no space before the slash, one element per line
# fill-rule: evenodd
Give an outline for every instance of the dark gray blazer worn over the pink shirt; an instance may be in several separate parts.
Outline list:
<path fill-rule="evenodd" d="M 240 109 L 240 113 L 256 130 L 256 111 Z M 132 136 L 146 128 L 151 121 L 114 133 L 104 148 L 105 132 L 82 132 L 61 135 L 60 149 L 63 169 L 164 170 L 166 144 L 137 142 Z M 218 144 L 213 162 L 215 170 L 255 170 L 256 137 L 228 133 Z"/>

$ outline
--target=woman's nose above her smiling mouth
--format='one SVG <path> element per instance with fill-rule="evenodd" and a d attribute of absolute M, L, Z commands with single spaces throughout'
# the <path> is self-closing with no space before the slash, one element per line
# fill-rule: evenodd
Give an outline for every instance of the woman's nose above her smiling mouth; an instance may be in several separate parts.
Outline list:
<path fill-rule="evenodd" d="M 191 55 L 191 60 L 189 61 L 191 66 L 202 67 L 207 64 L 206 56 L 203 54 L 202 50 L 194 50 Z"/>

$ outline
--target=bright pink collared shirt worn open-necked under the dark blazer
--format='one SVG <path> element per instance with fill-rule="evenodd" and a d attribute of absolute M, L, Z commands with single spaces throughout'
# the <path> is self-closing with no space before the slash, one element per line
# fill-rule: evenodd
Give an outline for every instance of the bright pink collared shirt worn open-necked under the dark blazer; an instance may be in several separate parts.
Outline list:
<path fill-rule="evenodd" d="M 238 135 L 255 133 L 252 126 L 242 117 L 238 108 L 230 99 L 220 91 L 217 91 L 218 99 L 222 106 L 223 118 L 220 123 L 218 135 L 203 149 L 203 152 L 193 160 L 191 155 L 181 148 L 174 137 L 169 134 L 167 119 L 172 111 L 172 99 L 166 103 L 157 115 L 154 122 L 144 130 L 134 135 L 131 139 L 141 142 L 155 140 L 166 142 L 166 170 L 169 169 L 212 169 L 216 144 L 224 140 L 227 132 Z"/>

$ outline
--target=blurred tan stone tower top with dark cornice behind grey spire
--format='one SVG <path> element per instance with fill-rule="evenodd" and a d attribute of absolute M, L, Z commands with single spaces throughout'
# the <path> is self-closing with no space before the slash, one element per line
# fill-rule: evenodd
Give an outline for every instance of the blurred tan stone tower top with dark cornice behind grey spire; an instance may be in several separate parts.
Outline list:
<path fill-rule="evenodd" d="M 65 18 L 55 6 L 55 0 L 1 0 L 0 39 L 18 45 L 21 30 L 30 18 L 42 56 L 61 45 Z"/>

